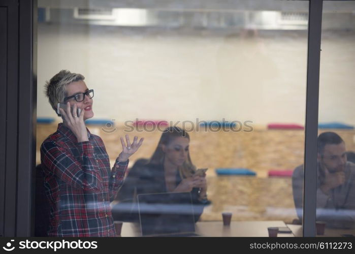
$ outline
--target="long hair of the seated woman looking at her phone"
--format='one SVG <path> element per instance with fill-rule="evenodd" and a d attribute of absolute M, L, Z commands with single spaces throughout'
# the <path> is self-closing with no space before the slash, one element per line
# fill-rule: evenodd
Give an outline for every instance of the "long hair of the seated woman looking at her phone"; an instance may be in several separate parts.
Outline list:
<path fill-rule="evenodd" d="M 156 147 L 153 155 L 150 158 L 150 164 L 153 165 L 163 165 L 165 153 L 162 149 L 162 145 L 168 145 L 173 139 L 178 137 L 187 138 L 190 141 L 190 137 L 185 130 L 177 127 L 170 126 L 163 131 L 162 137 L 160 137 L 158 146 Z M 196 167 L 191 162 L 190 152 L 187 153 L 187 160 L 183 163 L 182 166 L 178 167 L 180 177 L 187 178 L 195 174 Z"/>

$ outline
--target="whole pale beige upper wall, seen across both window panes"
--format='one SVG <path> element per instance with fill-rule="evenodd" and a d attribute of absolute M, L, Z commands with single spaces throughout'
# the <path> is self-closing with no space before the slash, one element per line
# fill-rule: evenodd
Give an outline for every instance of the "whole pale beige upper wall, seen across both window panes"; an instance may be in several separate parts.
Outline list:
<path fill-rule="evenodd" d="M 355 123 L 354 38 L 322 40 L 319 121 Z M 95 89 L 95 118 L 304 124 L 306 56 L 306 31 L 250 36 L 40 24 L 38 116 L 55 117 L 43 86 L 69 69 Z"/>

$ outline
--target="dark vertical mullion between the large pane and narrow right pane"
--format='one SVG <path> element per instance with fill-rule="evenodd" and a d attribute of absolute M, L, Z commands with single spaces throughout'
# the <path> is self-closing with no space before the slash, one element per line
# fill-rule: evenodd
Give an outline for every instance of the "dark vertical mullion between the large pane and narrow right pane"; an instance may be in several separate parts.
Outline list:
<path fill-rule="evenodd" d="M 309 0 L 303 236 L 315 236 L 322 0 Z"/>

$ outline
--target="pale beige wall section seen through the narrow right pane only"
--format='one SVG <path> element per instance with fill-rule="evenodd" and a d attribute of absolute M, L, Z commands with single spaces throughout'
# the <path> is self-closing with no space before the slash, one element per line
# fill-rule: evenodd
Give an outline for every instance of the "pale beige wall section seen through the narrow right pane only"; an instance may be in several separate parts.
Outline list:
<path fill-rule="evenodd" d="M 322 35 L 319 121 L 355 124 L 355 33 Z"/>

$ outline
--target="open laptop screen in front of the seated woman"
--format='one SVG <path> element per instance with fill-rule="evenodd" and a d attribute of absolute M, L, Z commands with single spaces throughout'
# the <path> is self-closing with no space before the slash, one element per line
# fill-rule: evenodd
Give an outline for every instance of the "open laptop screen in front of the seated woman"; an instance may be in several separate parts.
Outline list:
<path fill-rule="evenodd" d="M 142 236 L 195 232 L 191 193 L 140 194 Z"/>

